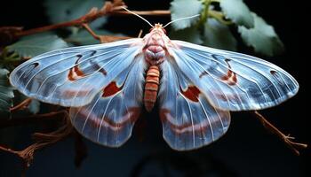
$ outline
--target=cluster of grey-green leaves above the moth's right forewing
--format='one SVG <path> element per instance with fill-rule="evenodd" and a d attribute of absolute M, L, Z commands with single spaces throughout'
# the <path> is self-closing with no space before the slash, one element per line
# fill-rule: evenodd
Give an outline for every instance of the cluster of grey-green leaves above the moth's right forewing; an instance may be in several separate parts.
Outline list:
<path fill-rule="evenodd" d="M 173 0 L 171 19 L 200 14 L 197 19 L 173 23 L 171 38 L 194 42 L 223 50 L 236 50 L 236 29 L 247 46 L 261 55 L 283 52 L 283 42 L 274 27 L 251 12 L 243 0 Z"/>

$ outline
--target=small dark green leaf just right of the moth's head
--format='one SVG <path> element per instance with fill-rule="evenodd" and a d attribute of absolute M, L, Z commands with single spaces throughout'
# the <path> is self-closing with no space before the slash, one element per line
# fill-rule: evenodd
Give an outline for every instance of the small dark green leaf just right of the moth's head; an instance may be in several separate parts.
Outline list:
<path fill-rule="evenodd" d="M 185 29 L 171 31 L 170 38 L 196 44 L 203 43 L 200 31 L 196 27 L 187 27 Z"/>

